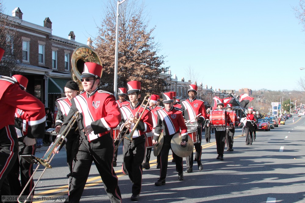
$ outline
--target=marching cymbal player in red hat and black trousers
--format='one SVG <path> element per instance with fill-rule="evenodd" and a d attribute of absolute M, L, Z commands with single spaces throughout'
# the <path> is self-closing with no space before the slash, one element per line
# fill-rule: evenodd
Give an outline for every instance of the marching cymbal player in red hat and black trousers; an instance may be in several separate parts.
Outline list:
<path fill-rule="evenodd" d="M 173 95 L 172 93 L 163 93 L 163 104 L 164 107 L 157 110 L 157 125 L 155 128 L 154 137 L 152 140 L 153 144 L 157 144 L 159 140 L 159 135 L 163 130 L 164 141 L 163 146 L 160 152 L 160 160 L 161 160 L 161 169 L 160 169 L 160 178 L 155 183 L 156 186 L 164 185 L 165 184 L 165 177 L 167 173 L 167 164 L 168 164 L 168 153 L 171 148 L 170 141 L 176 133 L 180 133 L 181 129 L 181 146 L 185 146 L 186 142 L 188 141 L 188 128 L 186 127 L 182 115 L 182 110 L 173 107 Z M 178 180 L 184 180 L 183 177 L 183 164 L 182 158 L 177 156 L 173 152 L 173 157 L 176 163 L 176 170 L 178 172 Z"/>

